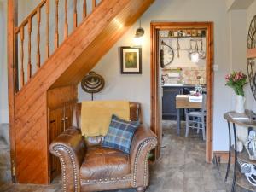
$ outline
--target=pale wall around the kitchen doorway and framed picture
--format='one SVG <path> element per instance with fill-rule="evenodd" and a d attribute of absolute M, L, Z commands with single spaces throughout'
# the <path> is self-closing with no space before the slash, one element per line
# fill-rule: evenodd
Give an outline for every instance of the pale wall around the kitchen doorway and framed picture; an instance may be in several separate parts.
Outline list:
<path fill-rule="evenodd" d="M 227 127 L 223 113 L 231 108 L 230 89 L 224 86 L 224 75 L 230 72 L 229 15 L 223 0 L 155 0 L 141 18 L 145 29 L 143 44 L 143 74 L 121 75 L 119 47 L 131 45 L 137 23 L 109 50 L 96 65 L 96 73 L 106 79 L 106 88 L 96 94 L 97 99 L 127 99 L 143 104 L 144 121 L 150 123 L 150 22 L 160 21 L 213 21 L 214 63 L 218 71 L 214 75 L 213 149 L 227 150 Z M 90 95 L 79 87 L 79 101 L 89 100 Z"/>

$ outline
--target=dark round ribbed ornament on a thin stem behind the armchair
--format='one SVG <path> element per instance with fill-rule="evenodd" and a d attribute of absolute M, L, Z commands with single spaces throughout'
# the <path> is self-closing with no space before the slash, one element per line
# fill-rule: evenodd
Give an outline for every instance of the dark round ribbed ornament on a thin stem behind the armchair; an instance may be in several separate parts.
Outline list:
<path fill-rule="evenodd" d="M 101 75 L 91 71 L 88 75 L 85 75 L 81 81 L 82 89 L 91 94 L 91 100 L 93 101 L 93 94 L 100 92 L 105 85 L 105 81 Z"/>

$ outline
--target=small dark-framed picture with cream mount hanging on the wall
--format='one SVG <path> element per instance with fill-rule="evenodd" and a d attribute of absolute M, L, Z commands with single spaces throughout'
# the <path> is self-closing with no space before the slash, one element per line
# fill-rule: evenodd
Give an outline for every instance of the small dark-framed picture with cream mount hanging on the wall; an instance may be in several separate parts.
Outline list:
<path fill-rule="evenodd" d="M 121 73 L 142 74 L 142 48 L 121 47 Z"/>

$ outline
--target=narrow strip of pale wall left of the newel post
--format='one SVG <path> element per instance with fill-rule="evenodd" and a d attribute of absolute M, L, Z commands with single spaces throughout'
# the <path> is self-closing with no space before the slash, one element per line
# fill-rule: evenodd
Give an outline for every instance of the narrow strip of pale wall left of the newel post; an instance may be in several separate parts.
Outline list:
<path fill-rule="evenodd" d="M 8 123 L 7 1 L 0 0 L 0 123 Z"/>

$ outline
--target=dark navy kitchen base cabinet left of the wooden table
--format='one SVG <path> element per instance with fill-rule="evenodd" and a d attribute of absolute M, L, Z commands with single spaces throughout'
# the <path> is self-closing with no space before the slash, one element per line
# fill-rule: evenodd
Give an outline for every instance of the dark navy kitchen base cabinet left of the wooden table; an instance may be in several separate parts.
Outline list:
<path fill-rule="evenodd" d="M 176 119 L 176 96 L 182 93 L 182 88 L 164 89 L 162 98 L 163 119 Z"/>

